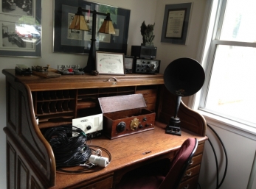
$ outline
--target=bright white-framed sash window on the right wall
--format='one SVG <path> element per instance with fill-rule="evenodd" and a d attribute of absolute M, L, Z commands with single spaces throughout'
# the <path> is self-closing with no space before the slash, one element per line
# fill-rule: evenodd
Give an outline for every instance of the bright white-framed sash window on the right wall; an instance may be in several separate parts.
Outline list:
<path fill-rule="evenodd" d="M 202 58 L 206 80 L 199 110 L 256 127 L 256 1 L 212 4 L 216 11 Z"/>

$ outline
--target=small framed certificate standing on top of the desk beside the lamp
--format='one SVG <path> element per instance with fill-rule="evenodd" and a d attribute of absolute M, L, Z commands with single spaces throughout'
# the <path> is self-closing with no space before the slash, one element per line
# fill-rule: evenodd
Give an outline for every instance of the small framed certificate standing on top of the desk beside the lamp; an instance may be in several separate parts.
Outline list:
<path fill-rule="evenodd" d="M 125 75 L 125 55 L 105 51 L 96 52 L 96 68 L 99 74 Z"/>

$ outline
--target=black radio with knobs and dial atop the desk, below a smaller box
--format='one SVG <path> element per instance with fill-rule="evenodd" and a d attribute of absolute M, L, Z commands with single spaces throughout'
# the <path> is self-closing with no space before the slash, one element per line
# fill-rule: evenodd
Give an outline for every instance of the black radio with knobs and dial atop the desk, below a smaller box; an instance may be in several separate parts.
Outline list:
<path fill-rule="evenodd" d="M 134 73 L 155 74 L 159 73 L 160 60 L 136 59 L 134 61 Z"/>

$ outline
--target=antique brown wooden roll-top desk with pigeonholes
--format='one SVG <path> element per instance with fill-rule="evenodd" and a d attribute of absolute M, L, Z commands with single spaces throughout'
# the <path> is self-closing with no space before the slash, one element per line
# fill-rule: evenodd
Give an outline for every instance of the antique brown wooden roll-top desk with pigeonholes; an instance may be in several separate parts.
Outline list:
<path fill-rule="evenodd" d="M 204 117 L 181 102 L 181 136 L 165 134 L 174 113 L 176 97 L 165 88 L 162 74 L 125 76 L 73 75 L 46 79 L 40 76 L 6 76 L 7 188 L 114 188 L 122 175 L 133 168 L 161 158 L 172 158 L 181 143 L 198 138 L 193 163 L 180 188 L 196 188 L 204 151 Z M 98 97 L 142 93 L 149 110 L 156 113 L 155 129 L 109 140 L 94 138 L 90 145 L 111 153 L 111 163 L 90 174 L 63 174 L 56 171 L 52 148 L 42 129 L 72 123 L 72 118 L 98 113 Z M 39 118 L 39 124 L 35 120 Z"/>

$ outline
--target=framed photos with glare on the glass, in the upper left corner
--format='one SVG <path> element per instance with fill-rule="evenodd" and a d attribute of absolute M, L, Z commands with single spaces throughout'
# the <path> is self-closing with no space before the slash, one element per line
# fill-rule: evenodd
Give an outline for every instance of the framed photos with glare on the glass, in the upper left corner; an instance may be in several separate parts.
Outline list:
<path fill-rule="evenodd" d="M 41 57 L 41 0 L 0 0 L 0 56 Z"/>

